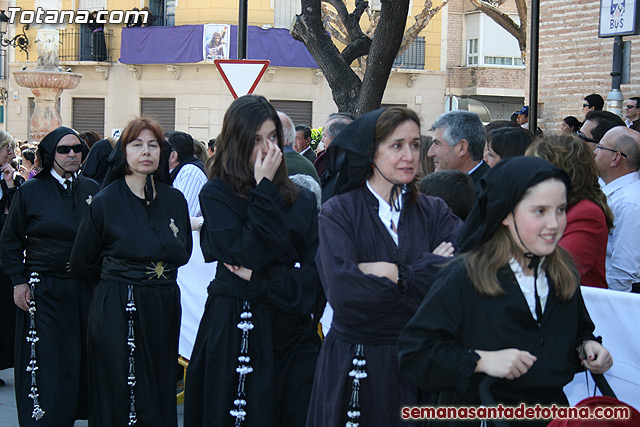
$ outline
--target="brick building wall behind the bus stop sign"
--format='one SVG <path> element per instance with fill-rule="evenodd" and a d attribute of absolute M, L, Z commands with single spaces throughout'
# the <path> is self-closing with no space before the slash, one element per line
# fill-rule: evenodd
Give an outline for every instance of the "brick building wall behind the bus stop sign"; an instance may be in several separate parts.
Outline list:
<path fill-rule="evenodd" d="M 613 38 L 598 38 L 599 7 L 598 0 L 541 2 L 538 125 L 547 131 L 558 131 L 560 121 L 569 115 L 583 120 L 585 95 L 595 92 L 606 99 L 611 90 Z M 621 88 L 628 98 L 640 94 L 634 61 L 640 55 L 640 37 L 624 40 L 632 40 L 631 84 Z"/>

